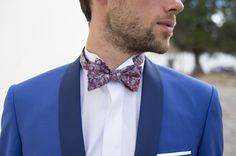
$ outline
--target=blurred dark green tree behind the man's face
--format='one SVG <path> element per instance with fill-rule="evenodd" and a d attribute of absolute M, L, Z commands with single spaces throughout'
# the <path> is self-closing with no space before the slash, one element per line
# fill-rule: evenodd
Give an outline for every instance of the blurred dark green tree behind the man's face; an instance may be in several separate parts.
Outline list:
<path fill-rule="evenodd" d="M 173 42 L 195 54 L 194 73 L 202 72 L 203 52 L 236 52 L 236 0 L 182 0 Z"/>

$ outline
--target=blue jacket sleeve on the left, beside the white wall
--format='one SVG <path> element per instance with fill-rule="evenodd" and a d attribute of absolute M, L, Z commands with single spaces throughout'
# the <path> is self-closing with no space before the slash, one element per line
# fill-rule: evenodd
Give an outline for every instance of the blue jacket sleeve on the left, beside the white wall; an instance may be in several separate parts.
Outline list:
<path fill-rule="evenodd" d="M 22 156 L 14 106 L 14 86 L 7 93 L 1 122 L 0 156 Z"/>

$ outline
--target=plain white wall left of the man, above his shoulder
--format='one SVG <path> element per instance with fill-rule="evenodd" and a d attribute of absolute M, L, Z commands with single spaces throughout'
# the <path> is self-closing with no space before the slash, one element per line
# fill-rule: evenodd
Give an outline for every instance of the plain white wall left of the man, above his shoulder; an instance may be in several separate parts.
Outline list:
<path fill-rule="evenodd" d="M 87 33 L 79 0 L 0 0 L 0 116 L 10 85 L 75 60 Z"/>

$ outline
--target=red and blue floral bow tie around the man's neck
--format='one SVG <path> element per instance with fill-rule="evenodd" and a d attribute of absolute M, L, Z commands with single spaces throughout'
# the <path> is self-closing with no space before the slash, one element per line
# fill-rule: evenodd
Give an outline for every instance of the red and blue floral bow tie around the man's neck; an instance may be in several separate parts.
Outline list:
<path fill-rule="evenodd" d="M 133 65 L 129 65 L 119 70 L 110 70 L 109 67 L 101 59 L 90 62 L 84 51 L 80 56 L 80 63 L 85 70 L 88 70 L 88 90 L 99 88 L 110 81 L 121 82 L 131 91 L 137 91 L 140 84 L 142 67 L 144 61 L 142 55 L 133 57 Z"/>

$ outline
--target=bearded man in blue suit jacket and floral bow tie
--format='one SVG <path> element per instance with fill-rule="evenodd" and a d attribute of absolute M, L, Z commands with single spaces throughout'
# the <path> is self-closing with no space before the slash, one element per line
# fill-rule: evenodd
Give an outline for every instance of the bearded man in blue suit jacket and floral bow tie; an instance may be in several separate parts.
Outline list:
<path fill-rule="evenodd" d="M 214 87 L 153 64 L 180 0 L 80 0 L 81 56 L 9 89 L 1 156 L 222 156 Z"/>

